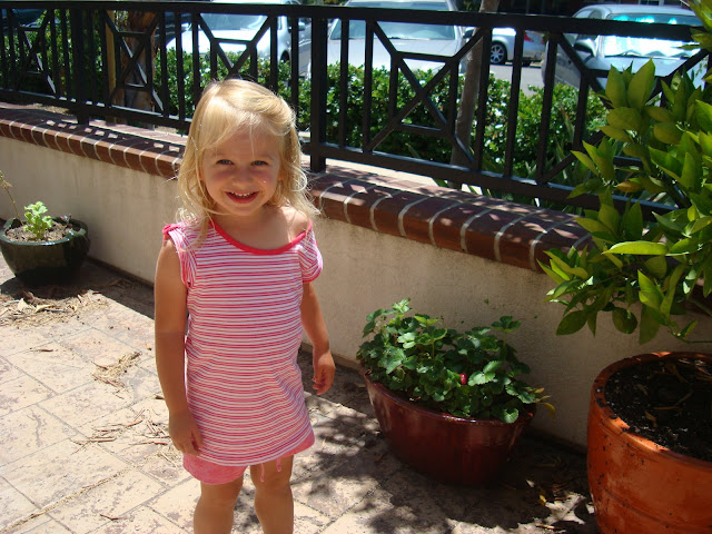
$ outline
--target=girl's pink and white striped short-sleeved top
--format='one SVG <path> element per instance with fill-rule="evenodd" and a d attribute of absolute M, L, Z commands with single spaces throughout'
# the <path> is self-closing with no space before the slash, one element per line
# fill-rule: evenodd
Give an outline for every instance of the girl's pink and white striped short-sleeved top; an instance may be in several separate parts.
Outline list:
<path fill-rule="evenodd" d="M 169 225 L 164 235 L 188 288 L 186 387 L 200 458 L 257 465 L 309 446 L 297 352 L 303 284 L 322 271 L 312 225 L 275 250 L 241 245 L 215 224 L 198 247 L 195 225 Z"/>

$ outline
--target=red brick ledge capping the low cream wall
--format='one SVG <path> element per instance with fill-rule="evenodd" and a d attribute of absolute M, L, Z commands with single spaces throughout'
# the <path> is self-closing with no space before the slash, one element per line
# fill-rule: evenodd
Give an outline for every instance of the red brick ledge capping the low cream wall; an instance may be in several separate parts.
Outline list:
<path fill-rule="evenodd" d="M 185 137 L 0 103 L 0 135 L 80 157 L 171 178 Z M 590 237 L 571 215 L 343 166 L 312 175 L 326 217 L 374 231 L 541 270 L 544 250 Z"/>

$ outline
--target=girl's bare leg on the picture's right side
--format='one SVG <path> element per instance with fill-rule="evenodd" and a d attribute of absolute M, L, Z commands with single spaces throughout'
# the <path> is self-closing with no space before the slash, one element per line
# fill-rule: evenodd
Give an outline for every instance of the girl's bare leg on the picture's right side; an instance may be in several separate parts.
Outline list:
<path fill-rule="evenodd" d="M 291 464 L 294 456 L 281 458 L 281 471 L 277 461 L 250 467 L 255 484 L 255 513 L 265 534 L 291 534 L 294 532 L 294 498 L 291 496 Z M 264 478 L 264 481 L 263 481 Z"/>

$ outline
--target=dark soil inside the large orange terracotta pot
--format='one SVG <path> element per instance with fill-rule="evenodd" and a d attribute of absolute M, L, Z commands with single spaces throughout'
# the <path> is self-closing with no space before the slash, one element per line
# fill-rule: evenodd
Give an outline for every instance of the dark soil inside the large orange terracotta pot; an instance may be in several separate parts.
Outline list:
<path fill-rule="evenodd" d="M 712 364 L 681 359 L 635 365 L 609 378 L 605 398 L 632 432 L 712 462 Z"/>

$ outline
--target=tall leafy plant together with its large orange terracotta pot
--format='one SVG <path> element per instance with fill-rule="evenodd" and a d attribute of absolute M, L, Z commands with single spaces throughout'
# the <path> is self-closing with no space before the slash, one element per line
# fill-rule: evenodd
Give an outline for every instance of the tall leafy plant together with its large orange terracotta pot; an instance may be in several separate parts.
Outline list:
<path fill-rule="evenodd" d="M 704 26 L 692 38 L 712 52 L 712 0 L 690 7 Z M 551 250 L 542 265 L 557 284 L 548 299 L 565 306 L 557 334 L 584 326 L 595 334 L 599 314 L 610 313 L 641 344 L 661 332 L 709 344 L 709 329 L 695 327 L 712 316 L 712 70 L 704 88 L 686 73 L 663 81 L 663 99 L 652 95 L 654 75 L 652 62 L 610 71 L 604 137 L 576 154 L 590 179 L 574 194 L 596 192 L 601 206 L 578 219 L 592 243 Z M 614 194 L 627 201 L 614 202 Z M 669 208 L 645 220 L 640 199 Z M 587 469 L 603 534 L 710 532 L 711 405 L 709 354 L 652 352 L 601 372 Z"/>

